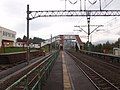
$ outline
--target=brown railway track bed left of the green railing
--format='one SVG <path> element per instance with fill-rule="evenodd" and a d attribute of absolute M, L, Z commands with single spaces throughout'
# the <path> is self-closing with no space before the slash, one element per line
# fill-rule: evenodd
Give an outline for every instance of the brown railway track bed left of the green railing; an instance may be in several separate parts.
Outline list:
<path fill-rule="evenodd" d="M 13 82 L 15 82 L 20 77 L 22 77 L 24 74 L 29 72 L 29 70 L 31 70 L 36 65 L 38 65 L 39 63 L 41 63 L 42 61 L 44 61 L 46 58 L 48 58 L 50 56 L 51 56 L 51 54 L 34 58 L 33 60 L 30 61 L 29 65 L 27 65 L 26 62 L 24 62 L 22 64 L 16 64 L 15 66 L 11 65 L 11 67 L 5 67 L 3 65 L 3 67 L 5 67 L 5 69 L 1 70 L 1 72 L 0 72 L 0 90 L 5 90 L 5 88 L 7 88 Z M 37 76 L 38 76 L 38 75 L 35 76 L 36 72 L 38 72 L 38 71 L 35 71 L 33 74 L 31 74 L 29 79 L 35 80 L 35 78 L 37 78 Z M 34 82 L 34 80 L 31 80 L 31 81 L 28 80 L 29 86 L 31 86 L 31 83 Z M 23 81 L 20 83 L 20 87 L 16 86 L 16 89 L 12 89 L 12 90 L 25 90 L 25 87 L 24 87 L 25 85 L 26 85 L 26 82 Z"/>

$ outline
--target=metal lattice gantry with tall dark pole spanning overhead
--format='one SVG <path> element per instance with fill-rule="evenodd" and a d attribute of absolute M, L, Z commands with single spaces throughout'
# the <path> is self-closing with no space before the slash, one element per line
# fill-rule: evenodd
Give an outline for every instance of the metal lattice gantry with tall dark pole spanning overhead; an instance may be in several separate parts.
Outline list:
<path fill-rule="evenodd" d="M 27 5 L 27 62 L 29 63 L 29 20 L 38 17 L 80 17 L 85 16 L 88 19 L 91 16 L 120 16 L 120 10 L 44 10 L 30 11 Z M 88 29 L 90 26 L 88 20 Z M 88 32 L 89 33 L 89 32 Z"/>

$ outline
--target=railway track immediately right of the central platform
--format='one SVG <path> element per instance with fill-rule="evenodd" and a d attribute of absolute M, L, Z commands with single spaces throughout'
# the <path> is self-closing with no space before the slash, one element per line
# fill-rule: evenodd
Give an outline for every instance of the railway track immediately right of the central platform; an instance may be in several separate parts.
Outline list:
<path fill-rule="evenodd" d="M 76 66 L 83 72 L 83 74 L 92 82 L 97 90 L 120 90 L 115 83 L 110 82 L 104 75 L 95 71 L 93 67 L 90 67 L 85 63 L 85 59 L 78 58 L 74 54 L 67 52 L 73 60 L 76 62 Z M 92 62 L 92 61 L 91 61 Z"/>

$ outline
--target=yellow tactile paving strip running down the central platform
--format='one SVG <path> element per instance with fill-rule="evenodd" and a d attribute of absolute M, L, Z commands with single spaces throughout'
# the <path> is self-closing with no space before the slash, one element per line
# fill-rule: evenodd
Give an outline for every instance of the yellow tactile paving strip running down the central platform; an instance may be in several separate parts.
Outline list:
<path fill-rule="evenodd" d="M 64 90 L 72 90 L 71 82 L 70 82 L 70 78 L 69 78 L 69 73 L 68 73 L 66 62 L 64 59 L 64 51 L 61 51 L 61 55 L 62 55 L 62 66 L 63 66 Z"/>

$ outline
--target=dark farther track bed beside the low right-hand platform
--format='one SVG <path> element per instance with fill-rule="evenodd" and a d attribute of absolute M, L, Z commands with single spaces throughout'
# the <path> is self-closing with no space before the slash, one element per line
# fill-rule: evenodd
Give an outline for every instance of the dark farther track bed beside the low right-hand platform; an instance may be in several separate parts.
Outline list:
<path fill-rule="evenodd" d="M 94 64 L 96 64 L 96 65 L 99 65 L 100 69 L 104 68 L 104 71 L 107 69 L 107 70 L 110 70 L 110 72 L 112 71 L 112 73 L 116 73 L 116 74 L 120 75 L 120 66 L 117 66 L 114 63 L 105 62 L 104 60 L 94 58 L 94 57 L 90 57 L 90 56 L 80 54 L 80 53 L 79 53 L 79 55 L 82 57 L 81 60 L 84 63 L 87 63 L 87 65 L 92 64 L 91 66 L 95 67 Z M 77 55 L 76 55 L 76 57 L 77 57 Z"/>

